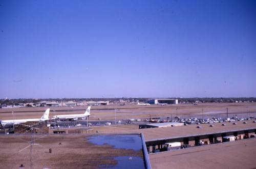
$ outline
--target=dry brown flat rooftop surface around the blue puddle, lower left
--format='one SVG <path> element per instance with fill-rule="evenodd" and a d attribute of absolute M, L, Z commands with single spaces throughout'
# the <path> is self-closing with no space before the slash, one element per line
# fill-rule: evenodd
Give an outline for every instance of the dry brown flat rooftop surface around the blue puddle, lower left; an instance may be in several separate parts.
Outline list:
<path fill-rule="evenodd" d="M 39 138 L 41 137 L 41 138 Z M 140 156 L 141 151 L 93 145 L 84 135 L 40 135 L 32 147 L 32 168 L 98 168 L 115 165 L 116 156 Z M 30 136 L 0 135 L 0 168 L 30 168 Z M 61 145 L 59 144 L 61 143 Z M 49 149 L 52 153 L 49 153 Z"/>

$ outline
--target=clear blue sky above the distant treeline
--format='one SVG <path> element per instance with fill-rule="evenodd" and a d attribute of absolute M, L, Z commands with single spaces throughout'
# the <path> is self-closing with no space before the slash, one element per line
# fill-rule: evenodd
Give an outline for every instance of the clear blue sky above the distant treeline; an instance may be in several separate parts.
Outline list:
<path fill-rule="evenodd" d="M 256 97 L 256 1 L 0 1 L 0 98 Z"/>

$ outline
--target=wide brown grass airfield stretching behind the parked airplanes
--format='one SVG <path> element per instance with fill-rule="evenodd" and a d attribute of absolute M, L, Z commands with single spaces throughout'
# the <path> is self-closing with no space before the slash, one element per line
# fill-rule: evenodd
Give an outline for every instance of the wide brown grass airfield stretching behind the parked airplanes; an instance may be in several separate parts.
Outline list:
<path fill-rule="evenodd" d="M 141 118 L 149 119 L 150 117 L 170 117 L 176 116 L 176 111 L 180 117 L 195 117 L 202 116 L 202 109 L 204 116 L 219 116 L 225 117 L 226 108 L 228 107 L 229 115 L 242 115 L 244 117 L 255 115 L 256 103 L 200 103 L 198 105 L 192 104 L 177 104 L 177 105 L 134 105 L 134 106 L 117 106 L 115 113 L 115 106 L 92 106 L 90 120 L 117 120 Z M 47 107 L 20 107 L 20 108 L 2 108 L 0 109 L 0 120 L 13 119 L 12 111 L 14 111 L 14 119 L 25 118 L 40 118 Z M 71 107 L 50 107 L 50 116 L 65 114 L 82 114 L 87 106 Z M 178 108 L 176 110 L 176 108 Z"/>

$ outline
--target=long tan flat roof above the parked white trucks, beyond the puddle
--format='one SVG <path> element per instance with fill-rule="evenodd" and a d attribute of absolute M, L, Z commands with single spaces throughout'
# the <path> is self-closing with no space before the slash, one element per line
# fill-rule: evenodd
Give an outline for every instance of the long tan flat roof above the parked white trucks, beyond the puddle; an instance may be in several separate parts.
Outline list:
<path fill-rule="evenodd" d="M 237 125 L 233 125 L 233 122 L 225 122 L 226 126 L 222 126 L 222 123 L 213 123 L 214 127 L 209 127 L 210 124 L 200 124 L 200 125 L 187 125 L 187 126 L 177 126 L 177 127 L 164 127 L 164 128 L 146 128 L 138 129 L 138 125 L 120 125 L 120 126 L 93 126 L 94 131 L 102 134 L 132 134 L 132 133 L 143 133 L 146 142 L 156 139 L 165 139 L 173 137 L 182 137 L 189 135 L 197 134 L 209 134 L 209 133 L 218 133 L 224 131 L 233 131 L 233 130 L 243 130 L 248 128 L 256 128 L 256 123 L 253 123 L 253 120 L 245 121 L 236 121 Z M 202 128 L 197 128 L 201 126 Z"/>

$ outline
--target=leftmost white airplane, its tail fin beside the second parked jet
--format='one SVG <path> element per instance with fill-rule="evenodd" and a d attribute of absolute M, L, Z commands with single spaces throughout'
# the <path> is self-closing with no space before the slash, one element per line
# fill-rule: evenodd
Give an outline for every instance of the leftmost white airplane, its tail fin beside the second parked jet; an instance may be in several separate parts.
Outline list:
<path fill-rule="evenodd" d="M 19 123 L 47 121 L 49 120 L 49 112 L 50 112 L 50 108 L 47 108 L 44 115 L 42 115 L 40 119 L 2 120 L 0 122 L 1 122 L 1 125 L 5 128 L 5 127 L 10 127 L 10 126 L 13 126 L 14 124 L 19 124 Z"/>

